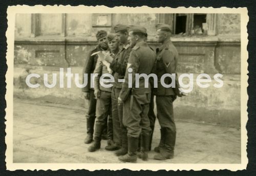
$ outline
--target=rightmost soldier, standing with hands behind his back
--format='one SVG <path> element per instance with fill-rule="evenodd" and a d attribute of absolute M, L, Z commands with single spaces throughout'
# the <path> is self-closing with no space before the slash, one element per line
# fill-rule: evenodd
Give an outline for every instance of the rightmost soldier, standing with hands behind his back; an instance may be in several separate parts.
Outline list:
<path fill-rule="evenodd" d="M 173 102 L 177 95 L 183 94 L 179 91 L 179 84 L 176 74 L 178 64 L 178 52 L 172 41 L 170 35 L 172 30 L 167 24 L 157 24 L 157 40 L 162 45 L 156 49 L 157 63 L 156 74 L 158 77 L 158 88 L 154 88 L 156 95 L 157 118 L 160 124 L 161 139 L 159 146 L 155 147 L 155 152 L 159 153 L 154 156 L 156 160 L 172 159 L 174 157 L 174 147 L 176 141 L 176 125 L 174 121 Z M 175 81 L 175 88 L 166 88 L 160 84 L 160 79 L 165 73 L 175 73 L 176 79 L 172 80 L 170 77 L 165 78 L 165 84 L 169 85 Z"/>

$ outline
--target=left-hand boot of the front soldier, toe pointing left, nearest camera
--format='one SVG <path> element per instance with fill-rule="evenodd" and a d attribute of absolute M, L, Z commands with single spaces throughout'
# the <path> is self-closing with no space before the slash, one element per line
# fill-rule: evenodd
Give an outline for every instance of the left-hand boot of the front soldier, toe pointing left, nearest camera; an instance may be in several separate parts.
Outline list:
<path fill-rule="evenodd" d="M 136 163 L 137 161 L 137 147 L 139 138 L 128 137 L 128 153 L 119 156 L 118 159 L 122 162 Z"/>

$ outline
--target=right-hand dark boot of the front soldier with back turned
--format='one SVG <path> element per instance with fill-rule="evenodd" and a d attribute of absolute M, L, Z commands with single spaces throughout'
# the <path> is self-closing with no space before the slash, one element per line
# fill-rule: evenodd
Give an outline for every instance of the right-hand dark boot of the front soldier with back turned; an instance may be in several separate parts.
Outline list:
<path fill-rule="evenodd" d="M 141 158 L 143 161 L 148 160 L 148 148 L 150 145 L 150 137 L 148 135 L 142 134 L 140 136 L 140 153 L 138 153 L 138 158 Z"/>

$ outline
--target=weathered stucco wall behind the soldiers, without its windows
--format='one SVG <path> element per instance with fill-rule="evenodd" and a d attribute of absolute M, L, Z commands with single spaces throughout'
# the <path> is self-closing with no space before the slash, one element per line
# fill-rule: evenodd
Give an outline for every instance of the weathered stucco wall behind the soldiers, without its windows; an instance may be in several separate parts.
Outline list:
<path fill-rule="evenodd" d="M 60 18 L 59 18 L 60 19 Z M 99 29 L 111 32 L 110 27 L 92 27 L 92 14 L 67 14 L 66 36 L 31 36 L 31 14 L 17 14 L 14 48 L 14 95 L 30 97 L 67 98 L 83 103 L 81 89 L 52 88 L 44 86 L 28 88 L 25 79 L 28 73 L 58 73 L 59 67 L 71 67 L 73 73 L 81 73 L 86 56 L 96 43 Z M 59 21 L 61 22 L 61 21 Z M 156 48 L 155 24 L 158 14 L 115 14 L 112 26 L 117 23 L 139 24 L 147 28 L 148 43 Z M 47 23 L 47 21 L 45 21 Z M 58 24 L 56 25 L 58 26 Z M 53 29 L 58 33 L 56 29 Z M 203 89 L 196 85 L 188 96 L 175 101 L 176 118 L 195 119 L 225 125 L 240 124 L 240 15 L 217 14 L 215 36 L 174 36 L 174 45 L 180 54 L 179 73 L 222 73 L 222 88 Z M 27 71 L 26 71 L 27 69 Z M 81 78 L 80 78 L 81 79 Z M 41 85 L 42 80 L 38 81 Z M 81 80 L 80 80 L 81 81 Z M 213 84 L 213 83 L 212 83 Z"/>

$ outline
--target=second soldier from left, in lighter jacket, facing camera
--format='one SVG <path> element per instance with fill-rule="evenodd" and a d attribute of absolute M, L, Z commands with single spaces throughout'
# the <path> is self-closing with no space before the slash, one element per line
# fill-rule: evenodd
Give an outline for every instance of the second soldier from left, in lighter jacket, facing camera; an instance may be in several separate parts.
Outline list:
<path fill-rule="evenodd" d="M 108 45 L 110 48 L 110 56 L 115 57 L 115 55 L 119 53 L 119 42 L 116 38 L 116 35 L 108 34 L 106 36 L 106 40 L 108 41 Z M 108 64 L 106 64 L 106 62 L 98 59 L 94 74 L 94 95 L 97 98 L 96 125 L 94 132 L 94 141 L 92 145 L 88 148 L 88 150 L 89 152 L 95 152 L 97 149 L 100 148 L 101 135 L 104 129 L 105 121 L 108 121 L 108 146 L 106 146 L 105 149 L 116 150 L 119 149 L 119 147 L 114 145 L 113 142 L 113 123 L 111 115 L 112 86 L 110 85 L 109 81 L 111 78 L 107 75 L 112 74 L 112 70 L 110 69 Z M 105 77 L 103 79 L 100 79 L 101 76 Z"/>

